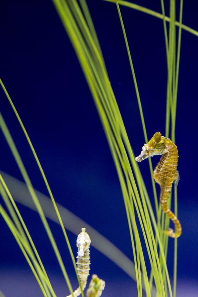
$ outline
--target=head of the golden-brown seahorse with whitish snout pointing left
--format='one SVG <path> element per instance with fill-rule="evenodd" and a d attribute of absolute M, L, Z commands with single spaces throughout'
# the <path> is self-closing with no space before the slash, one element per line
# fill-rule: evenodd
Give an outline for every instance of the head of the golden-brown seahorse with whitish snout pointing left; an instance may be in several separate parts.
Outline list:
<path fill-rule="evenodd" d="M 141 154 L 135 158 L 137 162 L 141 162 L 144 159 L 152 157 L 154 155 L 162 155 L 166 153 L 165 137 L 161 136 L 160 132 L 156 132 L 151 140 L 142 147 Z"/>

